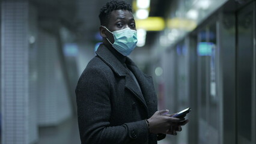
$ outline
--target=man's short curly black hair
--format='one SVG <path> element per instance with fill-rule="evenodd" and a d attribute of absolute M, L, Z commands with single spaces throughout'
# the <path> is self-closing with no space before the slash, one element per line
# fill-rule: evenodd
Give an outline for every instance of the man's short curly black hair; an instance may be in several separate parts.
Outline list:
<path fill-rule="evenodd" d="M 100 25 L 108 25 L 109 16 L 114 10 L 128 10 L 132 13 L 132 6 L 125 1 L 112 0 L 107 2 L 106 5 L 100 8 Z"/>

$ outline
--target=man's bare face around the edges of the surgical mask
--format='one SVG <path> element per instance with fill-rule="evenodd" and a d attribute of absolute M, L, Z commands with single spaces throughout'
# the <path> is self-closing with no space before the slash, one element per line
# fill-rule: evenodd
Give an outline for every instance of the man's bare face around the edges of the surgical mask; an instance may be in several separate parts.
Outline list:
<path fill-rule="evenodd" d="M 128 10 L 112 11 L 106 28 L 111 32 L 125 28 L 136 30 L 133 14 Z M 110 32 L 106 31 L 106 36 L 111 43 L 114 43 L 114 37 Z"/>

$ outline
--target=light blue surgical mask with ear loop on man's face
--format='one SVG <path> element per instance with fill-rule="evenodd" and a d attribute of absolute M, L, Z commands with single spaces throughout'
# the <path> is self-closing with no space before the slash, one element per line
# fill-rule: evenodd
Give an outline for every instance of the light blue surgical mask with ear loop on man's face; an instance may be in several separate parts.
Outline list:
<path fill-rule="evenodd" d="M 105 26 L 103 28 L 107 29 Z M 107 29 L 108 30 L 108 29 Z M 109 31 L 109 30 L 108 30 Z M 136 44 L 138 42 L 137 40 L 137 31 L 125 28 L 120 29 L 117 31 L 109 31 L 114 36 L 114 43 L 112 44 L 108 38 L 108 42 L 112 44 L 112 47 L 115 48 L 119 53 L 121 53 L 124 56 L 130 55 L 133 49 L 135 49 Z"/>

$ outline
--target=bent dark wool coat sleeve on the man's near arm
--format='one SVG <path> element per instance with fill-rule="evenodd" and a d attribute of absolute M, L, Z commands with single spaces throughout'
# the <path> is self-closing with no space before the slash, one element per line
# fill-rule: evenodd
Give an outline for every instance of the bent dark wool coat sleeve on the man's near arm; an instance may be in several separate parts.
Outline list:
<path fill-rule="evenodd" d="M 144 120 L 110 127 L 111 85 L 102 69 L 88 68 L 76 87 L 78 125 L 82 144 L 145 143 L 148 140 Z"/>

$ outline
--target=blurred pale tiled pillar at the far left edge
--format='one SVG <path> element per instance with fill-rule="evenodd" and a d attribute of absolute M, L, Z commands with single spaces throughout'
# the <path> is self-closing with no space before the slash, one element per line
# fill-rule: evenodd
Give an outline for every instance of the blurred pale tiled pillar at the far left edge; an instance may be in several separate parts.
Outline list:
<path fill-rule="evenodd" d="M 2 1 L 1 9 L 2 143 L 31 143 L 37 129 L 36 113 L 30 110 L 35 109 L 34 100 L 29 97 L 29 4 Z"/>

